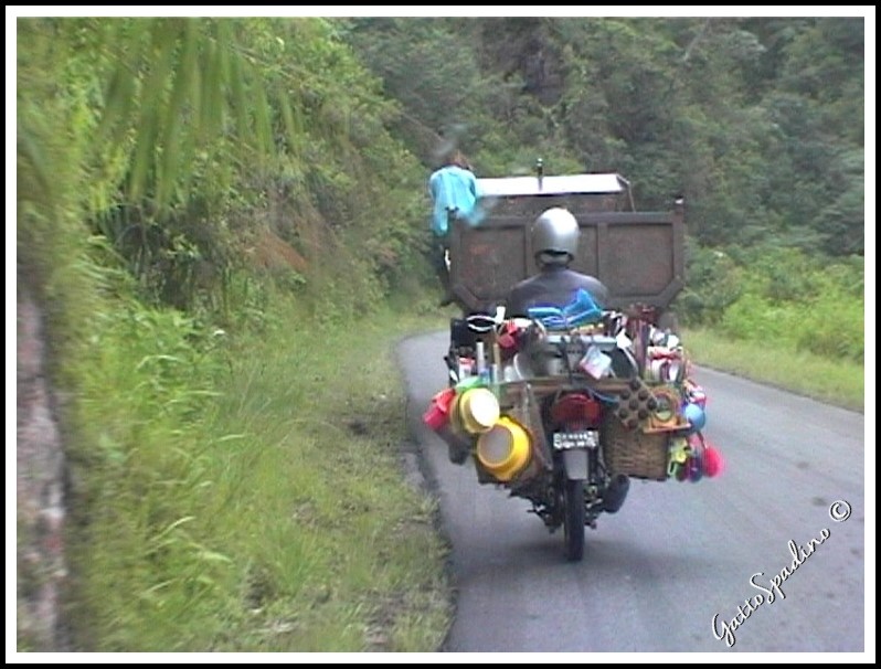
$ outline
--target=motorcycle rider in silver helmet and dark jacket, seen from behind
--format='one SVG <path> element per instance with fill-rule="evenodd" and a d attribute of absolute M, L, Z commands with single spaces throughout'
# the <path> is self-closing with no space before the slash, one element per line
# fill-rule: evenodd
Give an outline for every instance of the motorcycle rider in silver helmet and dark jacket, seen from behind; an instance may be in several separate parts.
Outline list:
<path fill-rule="evenodd" d="M 531 307 L 569 305 L 579 288 L 602 309 L 608 288 L 597 278 L 569 268 L 579 251 L 581 230 L 575 216 L 560 206 L 548 209 L 532 224 L 532 251 L 539 274 L 517 284 L 508 295 L 507 315 L 528 316 Z"/>

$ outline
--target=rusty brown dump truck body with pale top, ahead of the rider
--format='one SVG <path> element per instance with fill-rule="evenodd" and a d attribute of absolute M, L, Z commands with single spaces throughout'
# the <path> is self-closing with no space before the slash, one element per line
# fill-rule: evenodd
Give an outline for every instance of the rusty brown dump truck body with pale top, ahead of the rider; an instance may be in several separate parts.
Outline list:
<path fill-rule="evenodd" d="M 572 268 L 609 289 L 613 309 L 633 305 L 666 311 L 684 280 L 681 202 L 666 212 L 634 211 L 629 183 L 618 174 L 478 179 L 481 217 L 450 234 L 450 286 L 466 312 L 503 304 L 510 288 L 534 275 L 530 229 L 551 206 L 581 226 Z"/>

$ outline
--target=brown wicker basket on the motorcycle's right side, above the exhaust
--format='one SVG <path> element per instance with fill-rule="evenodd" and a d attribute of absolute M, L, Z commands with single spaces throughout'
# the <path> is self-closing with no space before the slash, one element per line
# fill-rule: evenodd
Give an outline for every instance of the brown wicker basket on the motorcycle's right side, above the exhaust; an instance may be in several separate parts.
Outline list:
<path fill-rule="evenodd" d="M 614 415 L 603 426 L 603 458 L 609 474 L 633 478 L 667 480 L 667 433 L 646 434 L 628 429 Z"/>

